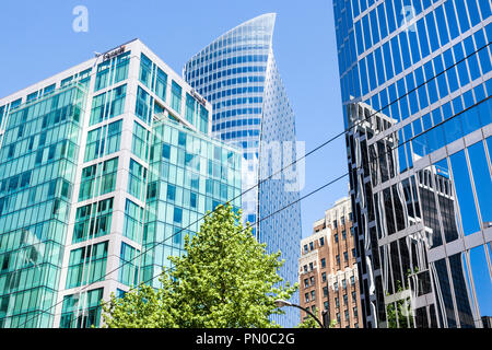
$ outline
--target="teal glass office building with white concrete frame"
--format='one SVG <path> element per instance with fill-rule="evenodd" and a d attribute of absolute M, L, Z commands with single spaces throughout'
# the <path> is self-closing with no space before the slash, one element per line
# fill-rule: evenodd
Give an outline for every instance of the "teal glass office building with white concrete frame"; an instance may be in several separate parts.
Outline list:
<path fill-rule="evenodd" d="M 0 100 L 0 327 L 97 326 L 208 210 L 241 208 L 211 113 L 138 39 Z"/>

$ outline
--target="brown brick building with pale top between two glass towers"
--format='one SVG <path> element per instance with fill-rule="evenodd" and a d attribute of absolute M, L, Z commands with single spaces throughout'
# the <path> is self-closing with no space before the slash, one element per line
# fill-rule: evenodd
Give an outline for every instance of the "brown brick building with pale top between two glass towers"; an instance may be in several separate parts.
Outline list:
<path fill-rule="evenodd" d="M 338 200 L 301 241 L 301 306 L 337 328 L 359 328 L 361 302 L 350 198 Z M 325 312 L 326 311 L 326 312 Z M 309 317 L 301 312 L 301 319 Z"/>

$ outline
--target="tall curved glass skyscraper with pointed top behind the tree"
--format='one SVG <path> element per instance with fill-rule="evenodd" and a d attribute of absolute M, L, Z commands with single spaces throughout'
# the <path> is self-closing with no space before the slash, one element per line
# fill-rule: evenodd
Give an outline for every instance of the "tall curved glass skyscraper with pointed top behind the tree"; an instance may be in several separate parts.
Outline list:
<path fill-rule="evenodd" d="M 301 240 L 300 173 L 291 164 L 297 154 L 295 117 L 272 50 L 276 14 L 269 13 L 229 31 L 185 66 L 184 77 L 213 106 L 212 135 L 243 151 L 243 217 L 269 252 L 282 253 L 280 275 L 297 282 Z M 297 295 L 293 302 L 297 302 Z M 276 317 L 284 326 L 298 323 L 289 307 Z"/>

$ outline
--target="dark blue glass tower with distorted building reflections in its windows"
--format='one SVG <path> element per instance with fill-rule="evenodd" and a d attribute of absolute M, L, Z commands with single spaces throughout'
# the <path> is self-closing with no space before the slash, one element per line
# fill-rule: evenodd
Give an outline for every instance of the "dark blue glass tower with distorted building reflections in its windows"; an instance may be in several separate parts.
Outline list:
<path fill-rule="evenodd" d="M 366 327 L 492 315 L 489 0 L 333 0 Z"/>

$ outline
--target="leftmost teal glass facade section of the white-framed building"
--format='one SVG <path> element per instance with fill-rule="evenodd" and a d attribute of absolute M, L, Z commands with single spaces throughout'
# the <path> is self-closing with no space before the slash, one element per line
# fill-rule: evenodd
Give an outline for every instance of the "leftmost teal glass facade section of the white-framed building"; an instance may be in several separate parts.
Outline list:
<path fill-rule="evenodd" d="M 86 96 L 77 85 L 48 91 L 17 100 L 3 122 L 0 327 L 52 326 Z"/>

